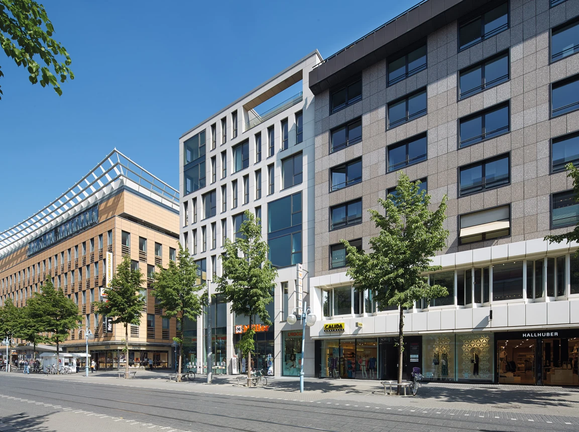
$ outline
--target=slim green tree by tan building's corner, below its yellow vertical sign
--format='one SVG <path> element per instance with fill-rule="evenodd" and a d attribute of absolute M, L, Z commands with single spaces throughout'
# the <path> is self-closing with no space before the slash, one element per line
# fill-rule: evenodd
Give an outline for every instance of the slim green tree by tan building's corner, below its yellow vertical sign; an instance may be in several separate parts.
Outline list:
<path fill-rule="evenodd" d="M 97 312 L 104 317 L 113 317 L 113 323 L 124 325 L 123 353 L 129 356 L 129 325 L 141 323 L 141 311 L 146 304 L 145 296 L 140 293 L 145 277 L 141 269 L 131 269 L 131 258 L 125 256 L 116 266 L 115 276 L 105 288 L 105 301 L 95 302 Z M 129 361 L 125 361 L 124 378 L 129 378 Z"/>

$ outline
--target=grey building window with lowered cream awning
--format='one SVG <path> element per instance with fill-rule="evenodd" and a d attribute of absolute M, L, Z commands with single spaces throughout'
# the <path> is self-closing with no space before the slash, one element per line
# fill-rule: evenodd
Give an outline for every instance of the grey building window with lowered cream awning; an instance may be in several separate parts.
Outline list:
<path fill-rule="evenodd" d="M 460 244 L 511 234 L 511 207 L 500 206 L 459 216 Z"/>

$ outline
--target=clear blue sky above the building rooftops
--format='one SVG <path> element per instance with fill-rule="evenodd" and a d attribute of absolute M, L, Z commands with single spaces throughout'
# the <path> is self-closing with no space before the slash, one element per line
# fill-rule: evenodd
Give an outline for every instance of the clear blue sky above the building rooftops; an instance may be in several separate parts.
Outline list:
<path fill-rule="evenodd" d="M 43 0 L 76 78 L 32 86 L 0 51 L 0 230 L 114 147 L 178 188 L 182 133 L 318 49 L 325 58 L 415 4 Z"/>

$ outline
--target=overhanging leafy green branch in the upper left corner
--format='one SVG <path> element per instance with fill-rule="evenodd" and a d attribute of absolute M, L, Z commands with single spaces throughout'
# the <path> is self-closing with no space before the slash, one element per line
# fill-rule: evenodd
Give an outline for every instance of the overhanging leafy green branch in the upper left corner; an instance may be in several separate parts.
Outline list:
<path fill-rule="evenodd" d="M 27 68 L 32 84 L 40 82 L 42 87 L 53 86 L 61 96 L 63 91 L 58 81 L 63 83 L 68 77 L 74 79 L 74 74 L 68 68 L 71 58 L 64 46 L 52 38 L 53 32 L 44 6 L 32 0 L 0 0 L 0 46 L 6 56 Z M 35 57 L 46 65 L 38 64 Z M 61 57 L 64 62 L 59 61 Z M 0 76 L 3 76 L 2 71 Z"/>

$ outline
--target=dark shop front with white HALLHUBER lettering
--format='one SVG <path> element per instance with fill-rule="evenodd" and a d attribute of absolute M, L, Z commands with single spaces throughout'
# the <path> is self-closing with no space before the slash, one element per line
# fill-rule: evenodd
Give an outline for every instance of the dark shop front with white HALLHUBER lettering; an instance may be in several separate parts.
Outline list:
<path fill-rule="evenodd" d="M 496 381 L 527 385 L 579 385 L 579 329 L 495 334 Z"/>

